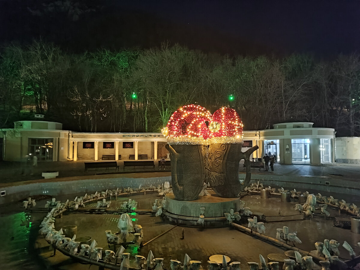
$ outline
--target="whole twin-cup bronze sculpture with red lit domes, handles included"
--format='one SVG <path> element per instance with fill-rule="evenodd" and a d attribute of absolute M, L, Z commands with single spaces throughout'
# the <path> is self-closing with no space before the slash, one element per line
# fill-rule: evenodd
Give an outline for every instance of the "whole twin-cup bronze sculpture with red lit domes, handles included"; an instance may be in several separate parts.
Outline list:
<path fill-rule="evenodd" d="M 200 105 L 185 105 L 172 114 L 162 133 L 168 142 L 176 200 L 197 199 L 204 182 L 230 198 L 249 183 L 249 157 L 258 147 L 241 152 L 243 124 L 234 109 L 223 107 L 211 115 Z M 238 177 L 241 159 L 247 168 L 244 185 Z"/>

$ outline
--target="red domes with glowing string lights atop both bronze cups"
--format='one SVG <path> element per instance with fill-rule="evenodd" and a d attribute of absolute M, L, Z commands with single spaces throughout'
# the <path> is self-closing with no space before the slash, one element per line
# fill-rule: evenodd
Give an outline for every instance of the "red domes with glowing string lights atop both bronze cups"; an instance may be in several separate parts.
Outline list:
<path fill-rule="evenodd" d="M 200 105 L 185 105 L 172 114 L 162 133 L 169 144 L 243 142 L 243 124 L 237 112 L 226 107 L 212 115 Z"/>

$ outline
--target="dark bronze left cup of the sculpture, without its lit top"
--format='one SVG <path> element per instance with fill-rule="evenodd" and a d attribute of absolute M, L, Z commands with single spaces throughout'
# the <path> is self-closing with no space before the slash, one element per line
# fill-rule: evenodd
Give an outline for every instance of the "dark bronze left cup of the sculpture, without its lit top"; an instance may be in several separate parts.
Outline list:
<path fill-rule="evenodd" d="M 178 201 L 198 198 L 204 183 L 203 145 L 166 145 L 171 160 L 172 191 Z"/>

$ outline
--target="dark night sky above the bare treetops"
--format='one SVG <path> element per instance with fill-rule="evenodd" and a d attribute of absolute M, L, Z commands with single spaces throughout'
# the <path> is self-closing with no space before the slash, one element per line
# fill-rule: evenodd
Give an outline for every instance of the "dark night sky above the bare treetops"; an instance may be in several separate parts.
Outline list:
<path fill-rule="evenodd" d="M 49 1 L 46 1 L 49 2 Z M 0 41 L 42 36 L 74 51 L 149 48 L 168 40 L 220 54 L 319 58 L 360 48 L 360 1 L 77 1 L 96 11 L 77 22 L 33 16 L 40 1 L 1 0 Z"/>

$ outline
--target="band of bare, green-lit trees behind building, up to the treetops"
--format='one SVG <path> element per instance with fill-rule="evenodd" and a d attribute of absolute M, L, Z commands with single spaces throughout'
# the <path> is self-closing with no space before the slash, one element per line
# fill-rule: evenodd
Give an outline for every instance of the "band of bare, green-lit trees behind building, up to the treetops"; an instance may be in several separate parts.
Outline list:
<path fill-rule="evenodd" d="M 245 130 L 307 121 L 360 136 L 360 57 L 229 57 L 167 43 L 70 53 L 41 40 L 0 51 L 0 128 L 40 113 L 66 130 L 159 132 L 189 103 L 235 108 Z"/>

